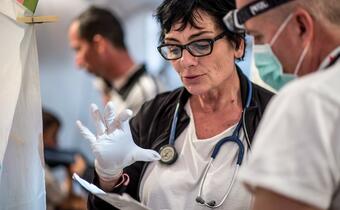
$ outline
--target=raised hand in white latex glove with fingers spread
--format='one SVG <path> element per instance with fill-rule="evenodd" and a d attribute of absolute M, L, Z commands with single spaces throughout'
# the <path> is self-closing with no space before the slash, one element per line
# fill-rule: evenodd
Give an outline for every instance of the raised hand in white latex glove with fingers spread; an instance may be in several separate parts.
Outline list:
<path fill-rule="evenodd" d="M 102 180 L 118 178 L 123 168 L 136 161 L 160 159 L 156 151 L 142 149 L 134 143 L 128 122 L 132 116 L 131 110 L 126 109 L 116 117 L 113 103 L 109 102 L 104 109 L 104 118 L 95 104 L 91 105 L 91 113 L 96 124 L 96 136 L 80 121 L 77 121 L 77 125 L 83 137 L 91 144 L 95 169 Z"/>

